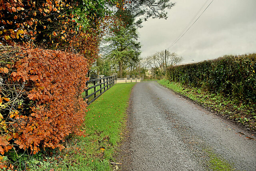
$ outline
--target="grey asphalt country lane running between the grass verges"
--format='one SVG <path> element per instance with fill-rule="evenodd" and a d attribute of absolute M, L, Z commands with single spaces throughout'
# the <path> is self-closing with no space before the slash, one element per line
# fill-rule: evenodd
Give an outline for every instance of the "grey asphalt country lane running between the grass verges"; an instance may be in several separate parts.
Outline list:
<path fill-rule="evenodd" d="M 124 171 L 212 170 L 217 158 L 256 171 L 255 135 L 157 82 L 134 86 L 127 125 L 117 157 Z"/>

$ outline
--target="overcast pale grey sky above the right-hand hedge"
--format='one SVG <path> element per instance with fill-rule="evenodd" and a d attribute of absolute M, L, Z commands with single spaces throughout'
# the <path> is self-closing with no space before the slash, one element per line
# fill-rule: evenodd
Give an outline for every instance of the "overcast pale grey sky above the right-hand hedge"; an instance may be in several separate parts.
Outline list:
<path fill-rule="evenodd" d="M 208 0 L 206 6 L 211 1 Z M 143 23 L 143 28 L 138 29 L 142 58 L 167 49 L 206 0 L 172 2 L 176 5 L 168 11 L 167 20 L 149 19 Z M 169 51 L 183 56 L 182 63 L 214 59 L 226 54 L 255 53 L 256 0 L 214 0 Z"/>

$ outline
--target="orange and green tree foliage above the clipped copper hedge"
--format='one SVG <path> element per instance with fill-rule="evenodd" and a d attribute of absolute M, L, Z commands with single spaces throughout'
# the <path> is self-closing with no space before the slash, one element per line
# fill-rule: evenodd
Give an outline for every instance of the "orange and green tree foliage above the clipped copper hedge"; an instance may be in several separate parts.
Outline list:
<path fill-rule="evenodd" d="M 126 1 L 97 0 L 86 6 L 79 0 L 0 0 L 0 43 L 33 42 L 43 49 L 81 53 L 87 58 L 92 53 L 95 58 L 109 3 L 122 8 Z"/>

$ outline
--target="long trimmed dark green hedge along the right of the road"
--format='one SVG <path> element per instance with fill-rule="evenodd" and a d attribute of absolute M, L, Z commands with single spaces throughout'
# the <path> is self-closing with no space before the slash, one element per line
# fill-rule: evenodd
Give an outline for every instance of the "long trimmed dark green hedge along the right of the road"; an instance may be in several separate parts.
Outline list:
<path fill-rule="evenodd" d="M 196 64 L 169 67 L 166 78 L 240 102 L 256 103 L 256 54 L 224 56 Z"/>

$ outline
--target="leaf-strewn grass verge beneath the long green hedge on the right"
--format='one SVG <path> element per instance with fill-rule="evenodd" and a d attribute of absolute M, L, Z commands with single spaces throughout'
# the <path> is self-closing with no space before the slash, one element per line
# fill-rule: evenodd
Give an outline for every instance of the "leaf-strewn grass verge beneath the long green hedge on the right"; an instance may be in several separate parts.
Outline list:
<path fill-rule="evenodd" d="M 256 131 L 256 104 L 244 104 L 241 101 L 234 101 L 224 97 L 222 94 L 210 93 L 201 88 L 185 87 L 179 83 L 169 82 L 166 79 L 159 80 L 158 83 L 196 101 L 206 108 L 210 108 L 212 111 L 242 123 L 252 131 Z"/>

